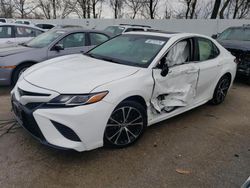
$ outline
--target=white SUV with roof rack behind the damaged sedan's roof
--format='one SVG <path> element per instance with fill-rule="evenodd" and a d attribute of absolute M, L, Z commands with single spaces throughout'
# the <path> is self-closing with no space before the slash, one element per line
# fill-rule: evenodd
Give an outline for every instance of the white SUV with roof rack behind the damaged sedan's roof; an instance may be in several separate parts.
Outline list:
<path fill-rule="evenodd" d="M 148 25 L 119 24 L 108 26 L 104 31 L 109 32 L 114 37 L 130 31 L 147 31 L 150 28 Z"/>

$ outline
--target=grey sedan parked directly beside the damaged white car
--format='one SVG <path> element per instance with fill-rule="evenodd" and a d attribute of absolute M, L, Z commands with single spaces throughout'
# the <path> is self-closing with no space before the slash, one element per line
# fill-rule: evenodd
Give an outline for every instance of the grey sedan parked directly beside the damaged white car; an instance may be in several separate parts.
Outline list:
<path fill-rule="evenodd" d="M 15 84 L 22 72 L 36 63 L 86 52 L 109 38 L 96 30 L 53 29 L 27 43 L 0 48 L 0 85 Z"/>

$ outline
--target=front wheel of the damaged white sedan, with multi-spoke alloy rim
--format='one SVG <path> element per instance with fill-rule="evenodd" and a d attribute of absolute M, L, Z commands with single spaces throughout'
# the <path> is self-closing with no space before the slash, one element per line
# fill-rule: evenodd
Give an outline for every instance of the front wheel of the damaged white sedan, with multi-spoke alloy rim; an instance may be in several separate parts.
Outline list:
<path fill-rule="evenodd" d="M 121 102 L 111 114 L 104 132 L 104 145 L 124 148 L 134 144 L 147 127 L 144 107 L 134 101 Z"/>

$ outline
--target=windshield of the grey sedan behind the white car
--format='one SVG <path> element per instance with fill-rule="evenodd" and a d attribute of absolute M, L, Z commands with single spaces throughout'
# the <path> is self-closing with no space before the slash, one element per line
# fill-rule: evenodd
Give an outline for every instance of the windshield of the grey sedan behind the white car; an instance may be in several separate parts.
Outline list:
<path fill-rule="evenodd" d="M 25 45 L 32 48 L 43 48 L 50 45 L 54 40 L 64 33 L 64 31 L 48 31 L 30 40 Z"/>

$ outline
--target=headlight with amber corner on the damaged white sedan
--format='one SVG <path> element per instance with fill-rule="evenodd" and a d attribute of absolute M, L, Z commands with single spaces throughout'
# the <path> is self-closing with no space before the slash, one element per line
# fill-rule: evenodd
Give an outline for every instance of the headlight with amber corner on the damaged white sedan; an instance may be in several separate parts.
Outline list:
<path fill-rule="evenodd" d="M 59 95 L 52 99 L 48 105 L 59 105 L 59 106 L 79 106 L 86 104 L 93 104 L 101 101 L 108 91 L 99 93 L 83 94 L 83 95 Z"/>

